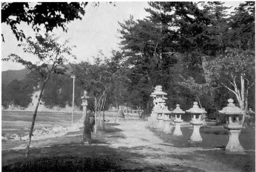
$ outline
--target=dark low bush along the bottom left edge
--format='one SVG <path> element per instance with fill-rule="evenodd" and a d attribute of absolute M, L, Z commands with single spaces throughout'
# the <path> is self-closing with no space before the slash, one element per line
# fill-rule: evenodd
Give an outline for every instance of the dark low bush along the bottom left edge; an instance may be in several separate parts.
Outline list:
<path fill-rule="evenodd" d="M 120 167 L 109 158 L 52 156 L 9 164 L 2 171 L 120 171 Z"/>

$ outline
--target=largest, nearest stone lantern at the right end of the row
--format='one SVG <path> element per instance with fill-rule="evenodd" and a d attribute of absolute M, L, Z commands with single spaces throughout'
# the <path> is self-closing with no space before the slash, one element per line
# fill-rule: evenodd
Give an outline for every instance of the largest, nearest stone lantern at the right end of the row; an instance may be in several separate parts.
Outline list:
<path fill-rule="evenodd" d="M 244 149 L 239 142 L 239 135 L 241 133 L 242 126 L 242 116 L 245 113 L 239 107 L 233 104 L 233 99 L 228 99 L 227 107 L 224 107 L 221 114 L 226 115 L 226 124 L 224 128 L 228 130 L 229 141 L 225 148 L 227 153 L 244 153 Z"/>

